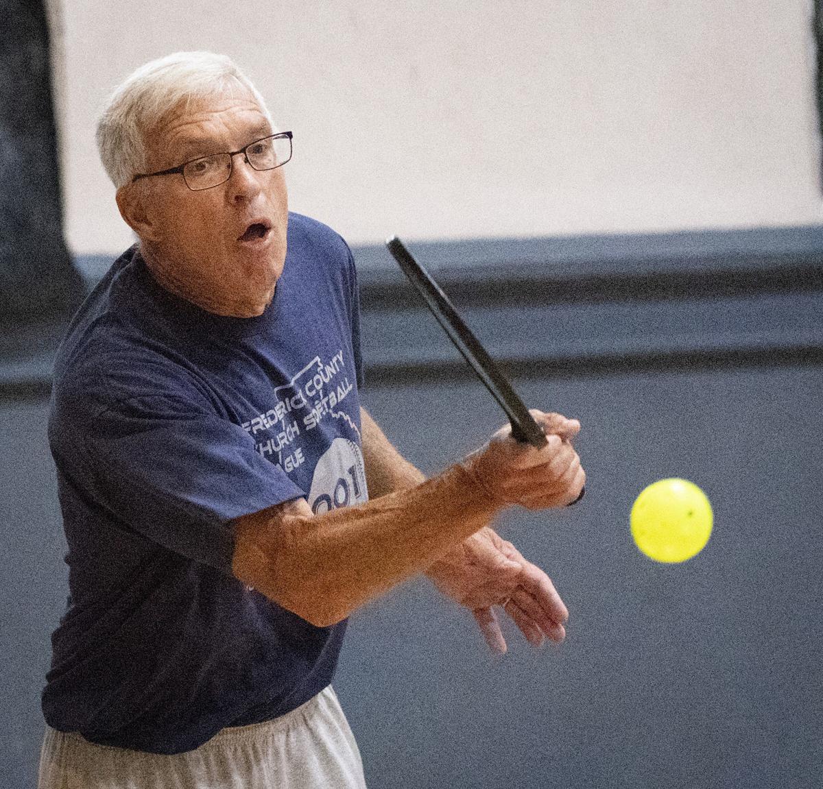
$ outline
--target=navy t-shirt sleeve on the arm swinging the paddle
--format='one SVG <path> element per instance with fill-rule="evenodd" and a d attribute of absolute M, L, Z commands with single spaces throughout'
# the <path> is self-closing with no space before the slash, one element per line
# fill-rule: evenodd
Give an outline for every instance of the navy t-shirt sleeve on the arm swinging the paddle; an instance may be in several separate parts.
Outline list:
<path fill-rule="evenodd" d="M 121 369 L 62 397 L 50 438 L 58 468 L 109 517 L 226 573 L 230 521 L 304 495 L 241 426 L 162 367 Z"/>

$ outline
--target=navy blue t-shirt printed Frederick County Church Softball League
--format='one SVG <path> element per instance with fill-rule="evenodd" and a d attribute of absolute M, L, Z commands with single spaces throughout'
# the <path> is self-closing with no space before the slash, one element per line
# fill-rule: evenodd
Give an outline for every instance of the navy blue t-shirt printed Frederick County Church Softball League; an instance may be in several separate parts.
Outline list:
<path fill-rule="evenodd" d="M 70 596 L 46 721 L 162 754 L 280 716 L 332 679 L 346 623 L 315 627 L 231 574 L 230 521 L 367 499 L 359 313 L 345 242 L 291 214 L 258 318 L 207 313 L 114 262 L 58 352 L 49 442 Z"/>

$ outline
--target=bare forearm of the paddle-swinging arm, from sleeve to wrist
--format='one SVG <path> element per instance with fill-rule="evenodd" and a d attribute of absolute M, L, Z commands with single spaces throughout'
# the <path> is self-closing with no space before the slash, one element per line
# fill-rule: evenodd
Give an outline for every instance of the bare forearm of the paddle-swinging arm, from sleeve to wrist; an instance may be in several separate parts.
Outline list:
<path fill-rule="evenodd" d="M 420 573 L 500 503 L 462 465 L 413 488 L 314 517 L 300 500 L 237 522 L 235 575 L 313 624 L 332 624 Z"/>

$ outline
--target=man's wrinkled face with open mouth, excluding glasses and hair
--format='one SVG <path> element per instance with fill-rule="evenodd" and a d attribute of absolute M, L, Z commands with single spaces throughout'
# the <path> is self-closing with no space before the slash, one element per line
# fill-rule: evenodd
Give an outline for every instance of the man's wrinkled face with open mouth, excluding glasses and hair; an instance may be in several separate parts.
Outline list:
<path fill-rule="evenodd" d="M 237 151 L 271 133 L 248 93 L 200 100 L 146 132 L 146 171 Z M 127 188 L 141 190 L 136 199 L 146 225 L 136 230 L 161 285 L 212 313 L 249 318 L 263 312 L 286 260 L 282 168 L 255 170 L 239 154 L 230 178 L 216 187 L 193 192 L 182 174 L 170 174 Z"/>

